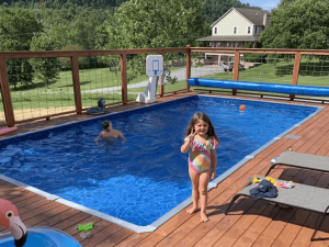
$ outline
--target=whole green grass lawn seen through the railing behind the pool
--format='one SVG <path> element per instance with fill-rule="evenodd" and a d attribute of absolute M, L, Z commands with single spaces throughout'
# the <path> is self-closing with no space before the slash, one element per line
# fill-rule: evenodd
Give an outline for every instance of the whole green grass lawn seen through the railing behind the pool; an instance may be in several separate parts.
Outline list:
<path fill-rule="evenodd" d="M 261 64 L 258 67 L 241 70 L 239 72 L 239 80 L 291 85 L 293 66 L 294 60 L 280 60 L 276 65 Z M 171 71 L 179 69 L 185 69 L 185 67 L 170 68 Z M 86 69 L 80 70 L 79 76 L 82 106 L 94 106 L 100 98 L 104 98 L 106 103 L 121 101 L 121 89 L 111 92 L 102 90 L 97 93 L 88 92 L 94 89 L 121 88 L 121 71 L 110 71 L 109 68 Z M 310 61 L 302 59 L 298 85 L 329 87 L 328 76 L 329 63 L 316 59 Z M 232 74 L 218 72 L 204 76 L 204 78 L 232 80 Z M 145 80 L 148 80 L 145 75 L 138 76 L 129 81 L 128 86 Z M 164 92 L 184 88 L 185 80 L 181 80 L 173 85 L 166 85 Z M 137 93 L 144 91 L 144 89 L 145 87 L 128 89 L 128 99 L 136 99 Z M 59 72 L 59 79 L 49 82 L 48 88 L 45 82 L 36 80 L 31 85 L 19 86 L 16 90 L 11 87 L 11 97 L 14 110 L 73 106 L 75 98 L 71 71 Z M 0 112 L 3 112 L 2 104 L 0 104 Z"/>

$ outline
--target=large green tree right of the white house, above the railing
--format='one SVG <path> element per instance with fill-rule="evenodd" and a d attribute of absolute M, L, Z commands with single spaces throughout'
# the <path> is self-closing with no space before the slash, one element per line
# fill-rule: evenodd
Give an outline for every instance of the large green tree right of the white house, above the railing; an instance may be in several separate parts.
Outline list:
<path fill-rule="evenodd" d="M 328 0 L 284 0 L 272 11 L 260 43 L 266 48 L 327 49 L 328 12 Z"/>

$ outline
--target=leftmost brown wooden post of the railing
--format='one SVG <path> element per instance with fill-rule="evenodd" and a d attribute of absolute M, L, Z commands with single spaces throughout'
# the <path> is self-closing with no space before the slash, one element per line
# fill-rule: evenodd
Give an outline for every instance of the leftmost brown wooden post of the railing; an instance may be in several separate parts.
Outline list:
<path fill-rule="evenodd" d="M 15 116 L 12 108 L 5 59 L 3 57 L 0 57 L 0 86 L 5 122 L 9 127 L 13 127 L 15 125 Z"/>

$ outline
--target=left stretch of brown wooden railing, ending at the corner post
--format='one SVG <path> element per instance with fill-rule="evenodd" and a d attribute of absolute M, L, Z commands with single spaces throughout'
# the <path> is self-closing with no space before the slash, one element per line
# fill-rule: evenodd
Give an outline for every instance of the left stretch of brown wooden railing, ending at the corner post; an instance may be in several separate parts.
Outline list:
<path fill-rule="evenodd" d="M 164 55 L 166 53 L 189 53 L 190 48 L 147 48 L 147 49 L 109 49 L 109 50 L 65 50 L 65 52 L 2 52 L 0 53 L 0 86 L 1 86 L 1 97 L 3 101 L 3 110 L 5 123 L 8 126 L 14 126 L 15 123 L 29 122 L 33 120 L 47 119 L 52 116 L 68 114 L 77 112 L 81 114 L 83 110 L 81 104 L 81 91 L 80 91 L 80 78 L 79 78 L 79 63 L 78 58 L 83 56 L 106 56 L 106 55 L 120 55 L 121 57 L 121 86 L 122 86 L 122 101 L 116 103 L 127 104 L 127 71 L 126 64 L 127 55 L 133 54 L 151 54 L 158 53 Z M 10 83 L 8 77 L 8 70 L 5 60 L 15 58 L 45 58 L 45 57 L 69 57 L 71 61 L 72 71 L 72 83 L 75 93 L 75 111 L 67 111 L 57 114 L 43 115 L 39 117 L 33 117 L 24 121 L 15 121 L 14 111 L 12 105 Z M 190 59 L 190 58 L 189 58 Z M 191 68 L 190 68 L 191 69 Z M 160 87 L 160 96 L 163 97 L 163 87 Z M 115 103 L 114 103 L 115 104 Z M 106 104 L 110 105 L 110 104 Z"/>

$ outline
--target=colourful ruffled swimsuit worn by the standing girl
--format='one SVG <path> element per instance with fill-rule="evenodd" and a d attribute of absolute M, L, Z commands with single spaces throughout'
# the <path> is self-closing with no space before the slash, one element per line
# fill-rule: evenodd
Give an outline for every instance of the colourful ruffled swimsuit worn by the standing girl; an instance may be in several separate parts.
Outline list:
<path fill-rule="evenodd" d="M 189 136 L 184 141 L 189 141 Z M 218 146 L 218 142 L 213 138 L 206 141 L 204 144 L 197 139 L 193 139 L 190 146 L 189 154 L 189 166 L 196 172 L 209 170 L 212 167 L 212 155 L 211 150 Z"/>

